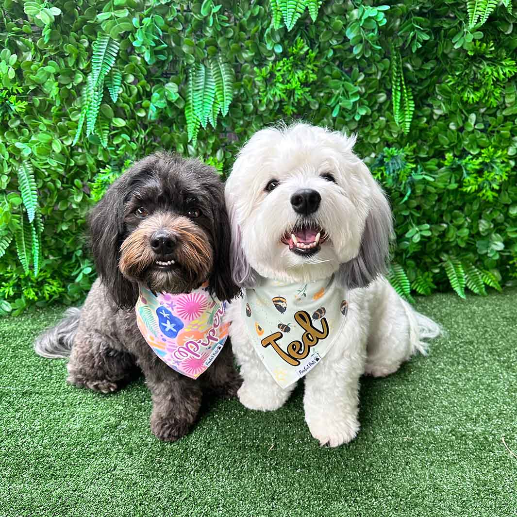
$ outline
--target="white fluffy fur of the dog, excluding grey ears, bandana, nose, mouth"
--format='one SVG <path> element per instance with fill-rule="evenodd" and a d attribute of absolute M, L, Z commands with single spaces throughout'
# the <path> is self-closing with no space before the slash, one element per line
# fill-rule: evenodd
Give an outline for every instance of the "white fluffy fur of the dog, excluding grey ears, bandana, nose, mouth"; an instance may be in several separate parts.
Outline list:
<path fill-rule="evenodd" d="M 249 277 L 259 282 L 260 277 L 318 280 L 358 256 L 367 218 L 386 202 L 366 165 L 353 154 L 354 143 L 355 138 L 337 132 L 296 124 L 258 131 L 242 148 L 226 182 L 226 201 Z M 327 172 L 337 185 L 321 177 Z M 279 186 L 265 191 L 273 178 Z M 311 258 L 294 254 L 280 241 L 299 222 L 290 198 L 300 188 L 320 192 L 313 221 L 330 235 Z M 247 339 L 239 303 L 229 311 L 233 350 L 244 378 L 239 399 L 250 409 L 277 409 L 294 385 L 282 389 L 266 371 Z M 342 339 L 305 376 L 303 402 L 312 436 L 332 447 L 352 440 L 359 431 L 360 376 L 397 371 L 414 353 L 425 353 L 423 339 L 439 332 L 436 323 L 415 312 L 382 277 L 351 290 Z"/>

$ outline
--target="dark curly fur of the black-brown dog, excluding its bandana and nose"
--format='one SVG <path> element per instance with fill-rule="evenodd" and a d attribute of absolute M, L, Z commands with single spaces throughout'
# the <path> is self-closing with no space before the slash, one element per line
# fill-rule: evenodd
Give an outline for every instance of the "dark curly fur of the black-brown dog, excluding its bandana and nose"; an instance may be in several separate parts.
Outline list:
<path fill-rule="evenodd" d="M 70 355 L 68 382 L 102 393 L 117 390 L 142 371 L 153 398 L 151 430 L 162 440 L 176 440 L 195 421 L 203 390 L 235 396 L 240 378 L 229 340 L 196 380 L 159 359 L 136 325 L 138 283 L 181 293 L 208 279 L 210 292 L 221 300 L 237 296 L 223 186 L 214 169 L 198 160 L 155 154 L 115 181 L 92 210 L 89 224 L 99 279 L 80 311 L 67 311 L 65 320 L 38 338 L 36 352 Z M 173 235 L 172 250 L 151 248 L 157 231 Z M 171 258 L 174 266 L 156 264 Z"/>

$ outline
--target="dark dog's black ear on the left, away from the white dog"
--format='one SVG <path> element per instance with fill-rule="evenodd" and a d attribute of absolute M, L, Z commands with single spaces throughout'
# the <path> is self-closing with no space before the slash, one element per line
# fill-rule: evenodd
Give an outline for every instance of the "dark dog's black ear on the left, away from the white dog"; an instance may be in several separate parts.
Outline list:
<path fill-rule="evenodd" d="M 105 193 L 89 215 L 90 247 L 97 273 L 105 291 L 118 308 L 134 307 L 138 288 L 118 269 L 120 245 L 124 238 L 124 198 L 129 174 L 121 176 Z"/>

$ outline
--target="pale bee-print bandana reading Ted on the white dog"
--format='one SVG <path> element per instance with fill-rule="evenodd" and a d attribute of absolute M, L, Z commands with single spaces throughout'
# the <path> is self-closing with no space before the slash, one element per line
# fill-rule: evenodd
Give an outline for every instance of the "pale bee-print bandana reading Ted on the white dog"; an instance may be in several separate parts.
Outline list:
<path fill-rule="evenodd" d="M 325 357 L 343 329 L 346 298 L 333 276 L 303 284 L 266 280 L 245 291 L 248 337 L 279 386 L 290 386 Z"/>

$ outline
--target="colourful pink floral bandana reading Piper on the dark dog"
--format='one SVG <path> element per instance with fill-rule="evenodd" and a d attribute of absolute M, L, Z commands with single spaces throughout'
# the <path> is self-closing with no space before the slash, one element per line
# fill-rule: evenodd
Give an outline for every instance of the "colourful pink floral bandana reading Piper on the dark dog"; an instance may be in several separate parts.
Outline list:
<path fill-rule="evenodd" d="M 229 323 L 225 303 L 210 296 L 207 285 L 190 293 L 154 295 L 140 287 L 136 323 L 153 352 L 173 370 L 199 377 L 221 352 Z"/>

